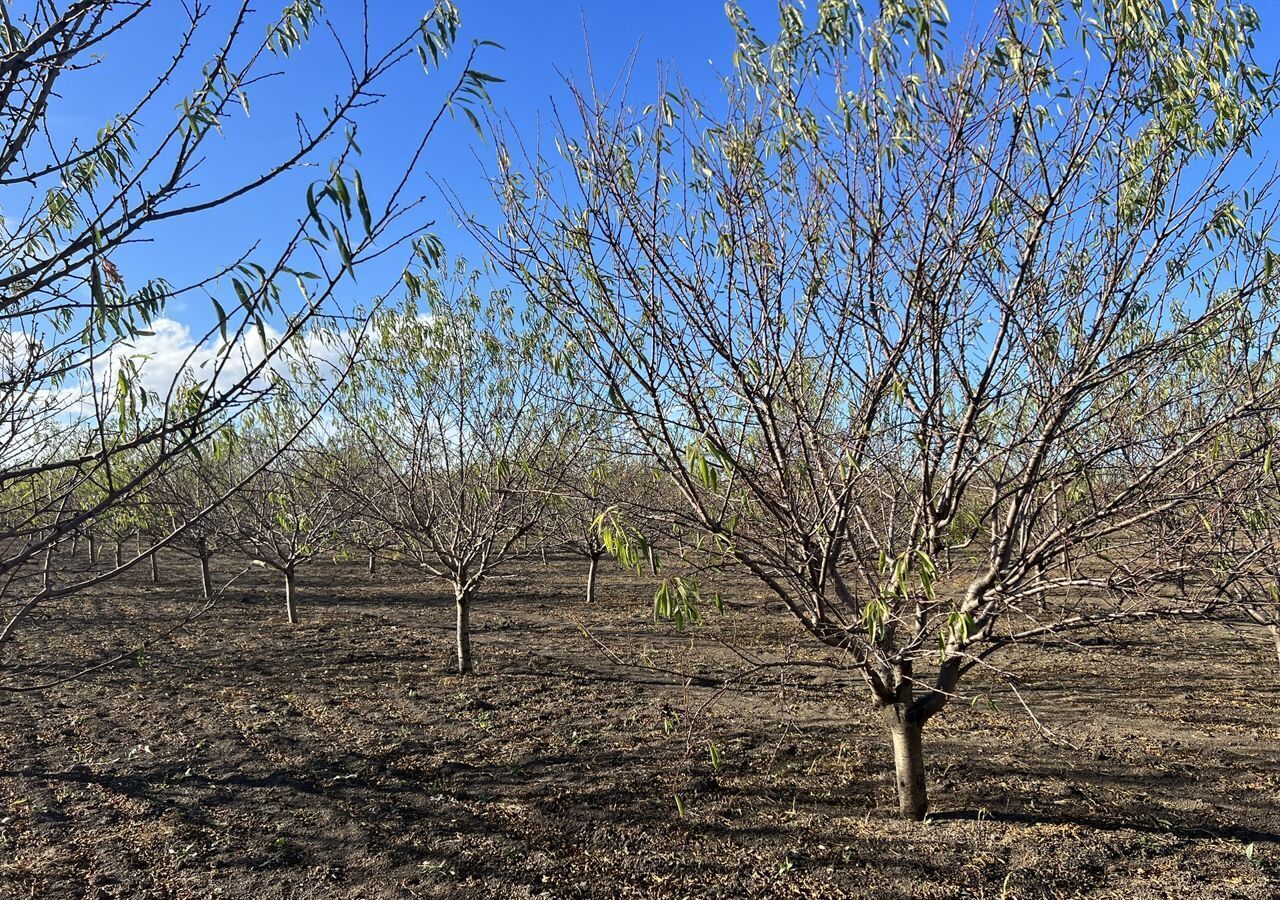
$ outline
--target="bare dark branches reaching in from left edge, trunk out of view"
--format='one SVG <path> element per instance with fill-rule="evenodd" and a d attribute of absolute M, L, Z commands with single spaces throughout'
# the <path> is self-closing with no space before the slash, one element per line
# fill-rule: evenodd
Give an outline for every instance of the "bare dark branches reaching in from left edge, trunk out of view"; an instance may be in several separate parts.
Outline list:
<path fill-rule="evenodd" d="M 150 40 L 133 36 L 163 9 L 184 17 L 172 41 L 155 37 L 163 22 Z M 14 201 L 0 234 L 0 493 L 40 485 L 9 507 L 0 534 L 4 644 L 36 606 L 134 561 L 46 580 L 36 590 L 10 575 L 73 535 L 92 535 L 95 522 L 131 503 L 170 461 L 257 402 L 280 347 L 333 305 L 335 288 L 424 230 L 411 220 L 411 192 L 440 115 L 425 117 L 406 137 L 404 161 L 387 160 L 381 197 L 365 191 L 353 166 L 356 133 L 366 109 L 384 97 L 389 73 L 419 60 L 431 70 L 443 64 L 460 19 L 439 0 L 383 46 L 357 8 L 325 13 L 319 0 L 289 3 L 271 19 L 247 0 L 180 9 L 35 3 L 6 6 L 0 19 L 0 183 Z M 250 119 L 251 99 L 291 90 L 293 60 L 330 38 L 337 46 L 329 52 L 342 60 L 330 67 L 333 91 L 323 92 L 320 109 L 297 109 L 283 149 L 269 150 L 282 146 L 270 131 L 280 118 Z M 76 100 L 99 90 L 96 68 L 125 47 L 136 93 L 111 97 L 118 114 L 105 115 L 96 134 L 77 133 L 68 124 L 82 118 Z M 474 54 L 445 90 L 444 106 L 485 99 L 493 78 L 471 69 Z M 174 110 L 175 90 L 183 93 Z M 225 155 L 236 165 L 215 164 Z M 300 175 L 317 165 L 324 174 L 307 187 Z M 227 211 L 243 211 L 247 197 L 287 195 L 291 186 L 298 215 L 284 215 L 271 233 L 270 216 L 260 214 L 243 252 L 207 260 L 201 247 L 178 246 L 183 223 L 215 228 Z M 138 247 L 152 241 L 160 248 L 143 255 Z M 198 274 L 164 277 L 166 260 L 193 256 Z M 294 285 L 297 302 L 284 293 Z M 193 334 L 180 373 L 157 383 L 138 347 L 154 337 L 172 298 L 195 293 L 214 297 L 216 324 Z M 183 389 L 192 371 L 198 390 Z M 147 465 L 119 465 L 125 457 Z M 86 481 L 99 489 L 93 502 L 70 502 Z"/>

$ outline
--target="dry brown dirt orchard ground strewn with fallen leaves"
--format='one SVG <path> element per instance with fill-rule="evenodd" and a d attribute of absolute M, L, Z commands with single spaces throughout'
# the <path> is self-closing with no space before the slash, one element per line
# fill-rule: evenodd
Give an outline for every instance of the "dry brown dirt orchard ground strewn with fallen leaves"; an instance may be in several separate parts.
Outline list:
<path fill-rule="evenodd" d="M 753 586 L 677 634 L 649 585 L 614 572 L 588 606 L 581 575 L 497 584 L 471 677 L 440 590 L 325 561 L 296 627 L 252 572 L 127 663 L 0 695 L 0 896 L 1280 896 L 1262 634 L 1002 658 L 1056 740 L 1000 677 L 970 682 L 927 732 L 933 817 L 906 824 L 856 676 L 805 664 Z M 0 675 L 169 627 L 193 584 L 166 561 L 49 611 Z"/>

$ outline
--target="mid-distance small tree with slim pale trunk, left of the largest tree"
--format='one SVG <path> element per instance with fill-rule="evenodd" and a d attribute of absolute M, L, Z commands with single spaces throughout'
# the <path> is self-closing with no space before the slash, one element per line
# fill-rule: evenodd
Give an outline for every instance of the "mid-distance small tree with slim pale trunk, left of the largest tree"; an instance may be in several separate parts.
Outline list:
<path fill-rule="evenodd" d="M 534 535 L 584 431 L 545 316 L 517 314 L 462 262 L 407 284 L 338 405 L 374 457 L 372 478 L 344 481 L 401 562 L 453 589 L 468 673 L 472 603 Z"/>

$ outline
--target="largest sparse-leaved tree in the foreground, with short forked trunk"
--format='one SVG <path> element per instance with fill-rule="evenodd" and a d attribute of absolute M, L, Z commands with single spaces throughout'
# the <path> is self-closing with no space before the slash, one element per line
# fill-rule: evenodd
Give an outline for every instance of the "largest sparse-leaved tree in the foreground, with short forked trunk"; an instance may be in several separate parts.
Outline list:
<path fill-rule="evenodd" d="M 730 15 L 723 105 L 575 91 L 564 165 L 499 136 L 474 232 L 677 531 L 863 673 L 918 819 L 924 725 L 991 654 L 1221 609 L 1217 534 L 1157 550 L 1275 443 L 1276 79 L 1234 1 L 1002 4 L 955 49 L 934 0 L 783 4 L 772 44 Z M 1212 390 L 1165 376 L 1196 355 Z"/>

